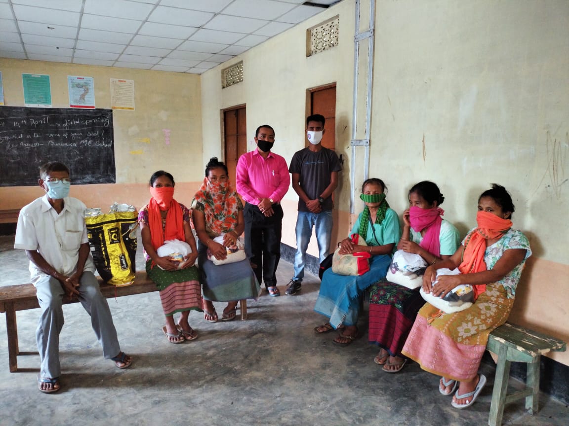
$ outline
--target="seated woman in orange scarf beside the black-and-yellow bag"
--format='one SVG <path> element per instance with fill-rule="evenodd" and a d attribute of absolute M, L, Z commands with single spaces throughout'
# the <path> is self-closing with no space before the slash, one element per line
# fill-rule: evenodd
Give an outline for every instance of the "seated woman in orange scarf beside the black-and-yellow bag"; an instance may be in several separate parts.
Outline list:
<path fill-rule="evenodd" d="M 197 338 L 189 326 L 192 309 L 201 311 L 199 272 L 193 266 L 197 258 L 196 240 L 189 221 L 189 210 L 174 199 L 174 177 L 159 170 L 150 178 L 149 203 L 138 214 L 142 244 L 145 249 L 146 273 L 160 290 L 160 300 L 166 325 L 164 334 L 170 343 L 182 343 Z M 179 240 L 189 244 L 192 252 L 180 262 L 170 256 L 160 257 L 156 250 L 164 241 Z M 181 263 L 181 264 L 180 264 Z M 181 312 L 178 323 L 174 314 Z"/>

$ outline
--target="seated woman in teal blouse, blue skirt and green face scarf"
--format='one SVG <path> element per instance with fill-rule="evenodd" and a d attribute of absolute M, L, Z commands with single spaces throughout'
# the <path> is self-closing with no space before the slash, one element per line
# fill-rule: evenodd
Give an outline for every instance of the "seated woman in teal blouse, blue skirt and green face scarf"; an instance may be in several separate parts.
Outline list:
<path fill-rule="evenodd" d="M 357 337 L 357 318 L 364 290 L 378 279 L 385 278 L 391 262 L 391 253 L 399 240 L 399 218 L 385 200 L 385 183 L 371 178 L 362 185 L 360 198 L 365 203 L 350 236 L 359 234 L 367 245 L 354 245 L 351 238 L 338 243 L 339 254 L 369 252 L 369 271 L 363 275 L 340 275 L 328 269 L 320 284 L 320 294 L 314 310 L 329 318 L 328 323 L 316 327 L 318 333 L 340 329 L 334 343 L 349 345 Z"/>

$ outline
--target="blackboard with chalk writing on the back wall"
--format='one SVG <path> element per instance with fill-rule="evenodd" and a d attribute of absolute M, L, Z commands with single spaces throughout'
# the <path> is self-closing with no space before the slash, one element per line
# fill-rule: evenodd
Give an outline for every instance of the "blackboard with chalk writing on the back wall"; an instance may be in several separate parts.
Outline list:
<path fill-rule="evenodd" d="M 115 183 L 113 111 L 0 106 L 0 186 L 38 185 L 47 161 L 73 184 Z"/>

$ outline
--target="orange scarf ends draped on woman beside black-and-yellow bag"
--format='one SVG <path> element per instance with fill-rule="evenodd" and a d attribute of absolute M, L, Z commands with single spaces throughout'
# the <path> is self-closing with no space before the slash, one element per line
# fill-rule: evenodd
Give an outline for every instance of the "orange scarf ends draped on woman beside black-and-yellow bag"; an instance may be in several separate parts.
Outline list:
<path fill-rule="evenodd" d="M 172 188 L 172 192 L 174 188 Z M 148 203 L 148 223 L 150 227 L 150 235 L 152 237 L 152 247 L 157 250 L 164 245 L 166 240 L 185 241 L 184 234 L 184 218 L 182 216 L 182 207 L 172 198 L 170 206 L 167 209 L 166 225 L 162 227 L 162 216 L 160 215 L 159 202 L 152 197 Z"/>

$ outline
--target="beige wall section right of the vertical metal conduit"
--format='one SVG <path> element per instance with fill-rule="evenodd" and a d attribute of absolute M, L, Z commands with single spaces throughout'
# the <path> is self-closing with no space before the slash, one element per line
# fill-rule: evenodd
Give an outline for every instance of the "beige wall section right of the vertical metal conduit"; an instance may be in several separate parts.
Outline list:
<path fill-rule="evenodd" d="M 569 341 L 569 3 L 381 1 L 376 26 L 371 158 L 391 206 L 431 179 L 464 233 L 504 185 L 534 252 L 511 319 Z"/>

